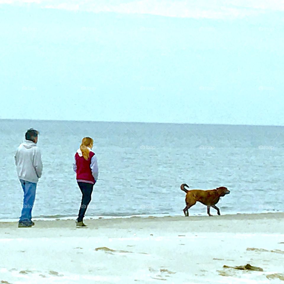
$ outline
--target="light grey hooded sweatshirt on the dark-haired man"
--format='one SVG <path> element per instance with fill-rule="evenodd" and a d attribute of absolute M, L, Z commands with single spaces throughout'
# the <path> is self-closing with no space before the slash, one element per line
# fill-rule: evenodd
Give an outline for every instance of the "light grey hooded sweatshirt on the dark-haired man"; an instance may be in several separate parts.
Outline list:
<path fill-rule="evenodd" d="M 41 152 L 33 141 L 25 140 L 15 154 L 18 177 L 37 183 L 42 173 Z"/>

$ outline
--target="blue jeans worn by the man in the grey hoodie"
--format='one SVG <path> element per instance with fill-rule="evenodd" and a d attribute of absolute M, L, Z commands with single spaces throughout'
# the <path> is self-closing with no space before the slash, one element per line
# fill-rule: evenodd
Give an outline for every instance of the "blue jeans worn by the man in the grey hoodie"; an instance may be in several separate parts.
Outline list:
<path fill-rule="evenodd" d="M 20 182 L 24 191 L 24 202 L 19 222 L 30 223 L 32 221 L 32 209 L 35 202 L 36 183 L 31 183 L 26 180 L 20 180 Z"/>

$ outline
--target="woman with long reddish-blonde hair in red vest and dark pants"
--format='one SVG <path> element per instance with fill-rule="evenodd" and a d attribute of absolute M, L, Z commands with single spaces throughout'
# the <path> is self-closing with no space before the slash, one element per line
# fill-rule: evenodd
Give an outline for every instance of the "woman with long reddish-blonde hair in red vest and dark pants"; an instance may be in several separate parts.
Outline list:
<path fill-rule="evenodd" d="M 83 223 L 83 218 L 91 201 L 93 186 L 99 175 L 97 158 L 95 153 L 91 151 L 93 143 L 92 138 L 84 137 L 80 149 L 75 154 L 75 162 L 73 163 L 73 170 L 77 175 L 77 183 L 82 192 L 82 202 L 76 222 L 78 227 L 87 227 Z"/>

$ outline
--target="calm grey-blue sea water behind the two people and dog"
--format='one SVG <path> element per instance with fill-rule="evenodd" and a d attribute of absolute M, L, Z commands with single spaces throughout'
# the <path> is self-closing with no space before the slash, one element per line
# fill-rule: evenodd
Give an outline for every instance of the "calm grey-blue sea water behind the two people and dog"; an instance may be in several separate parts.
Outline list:
<path fill-rule="evenodd" d="M 84 136 L 94 138 L 99 162 L 86 217 L 183 215 L 184 182 L 226 186 L 231 193 L 218 203 L 221 214 L 284 209 L 284 127 L 0 120 L 0 219 L 20 215 L 14 153 L 31 127 L 41 133 L 43 159 L 33 217 L 77 215 L 81 193 L 72 162 Z M 190 214 L 206 215 L 206 207 L 196 204 Z"/>

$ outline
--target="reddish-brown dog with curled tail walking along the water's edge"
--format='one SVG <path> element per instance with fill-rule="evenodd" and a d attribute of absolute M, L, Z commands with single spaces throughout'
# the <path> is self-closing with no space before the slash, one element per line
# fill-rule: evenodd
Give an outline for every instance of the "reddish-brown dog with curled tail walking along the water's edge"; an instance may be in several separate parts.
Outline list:
<path fill-rule="evenodd" d="M 212 216 L 210 214 L 210 207 L 217 210 L 217 214 L 220 215 L 220 210 L 215 204 L 218 203 L 221 196 L 225 196 L 226 194 L 229 194 L 230 191 L 225 187 L 217 187 L 216 189 L 212 190 L 199 190 L 199 189 L 193 189 L 193 190 L 187 190 L 184 187 L 189 186 L 186 183 L 183 183 L 180 185 L 180 189 L 186 193 L 185 196 L 185 209 L 183 209 L 184 215 L 188 216 L 188 209 L 196 204 L 196 201 L 199 201 L 200 203 L 207 205 L 207 214 L 209 216 Z"/>

